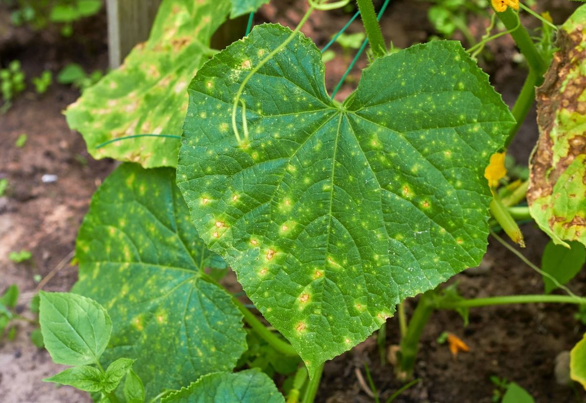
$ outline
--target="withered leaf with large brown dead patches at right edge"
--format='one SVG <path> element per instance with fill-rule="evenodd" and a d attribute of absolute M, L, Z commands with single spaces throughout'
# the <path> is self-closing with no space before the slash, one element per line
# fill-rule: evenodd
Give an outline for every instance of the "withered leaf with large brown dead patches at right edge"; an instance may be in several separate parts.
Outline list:
<path fill-rule="evenodd" d="M 537 91 L 540 138 L 530 161 L 529 211 L 556 244 L 586 245 L 586 5 L 558 30 Z"/>

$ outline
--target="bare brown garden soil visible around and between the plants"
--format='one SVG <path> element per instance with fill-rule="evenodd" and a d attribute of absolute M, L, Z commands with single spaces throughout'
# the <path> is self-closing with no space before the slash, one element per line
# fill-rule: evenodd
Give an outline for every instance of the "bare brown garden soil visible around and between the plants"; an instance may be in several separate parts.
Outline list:
<path fill-rule="evenodd" d="M 383 18 L 386 37 L 397 47 L 407 47 L 434 34 L 427 20 L 428 6 L 423 1 L 392 1 Z M 541 6 L 540 11 L 550 9 L 559 23 L 577 4 L 551 0 Z M 255 16 L 255 23 L 295 26 L 305 9 L 305 2 L 275 1 Z M 352 14 L 353 11 L 316 12 L 303 31 L 322 47 Z M 104 12 L 74 26 L 75 35 L 70 39 L 61 37 L 56 29 L 40 33 L 6 29 L 7 21 L 9 10 L 0 5 L 2 67 L 11 60 L 21 60 L 28 78 L 39 76 L 45 69 L 56 74 L 70 62 L 80 63 L 90 71 L 107 67 Z M 482 35 L 485 23 L 485 19 L 472 16 L 471 31 Z M 349 32 L 360 30 L 362 23 L 357 19 Z M 326 86 L 330 91 L 355 54 L 355 50 L 347 51 L 337 44 L 332 49 L 336 57 L 326 64 Z M 512 105 L 523 84 L 523 64 L 513 61 L 519 58 L 507 36 L 489 43 L 488 49 L 491 56 L 479 62 Z M 356 87 L 360 69 L 366 65 L 367 59 L 362 57 L 336 98 L 343 100 Z M 76 268 L 69 262 L 77 229 L 91 195 L 114 167 L 110 160 L 96 161 L 88 156 L 81 136 L 67 128 L 62 110 L 78 96 L 77 90 L 59 84 L 37 95 L 29 85 L 12 108 L 0 115 L 0 179 L 9 182 L 6 194 L 0 197 L 0 292 L 10 284 L 18 284 L 22 292 L 18 311 L 30 318 L 34 315 L 28 312 L 28 303 L 40 286 L 47 291 L 67 291 L 76 281 Z M 18 148 L 15 141 L 21 134 L 28 135 L 28 141 Z M 519 163 L 527 162 L 537 135 L 532 111 L 510 148 Z M 43 175 L 56 175 L 57 180 L 45 183 Z M 523 230 L 529 245 L 523 253 L 539 265 L 547 238 L 530 224 Z M 20 264 L 8 259 L 9 252 L 19 250 L 31 251 L 32 259 Z M 35 281 L 35 275 L 43 281 Z M 583 294 L 585 280 L 581 274 L 569 286 Z M 482 268 L 465 271 L 452 282 L 458 282 L 462 295 L 470 298 L 543 292 L 540 275 L 493 239 Z M 415 304 L 416 299 L 408 300 L 407 315 Z M 574 319 L 576 310 L 574 306 L 539 304 L 476 308 L 470 311 L 467 327 L 456 312 L 435 312 L 421 339 L 415 367 L 414 375 L 421 381 L 395 402 L 489 403 L 495 388 L 489 380 L 492 375 L 517 382 L 537 402 L 581 401 L 584 394 L 580 387 L 575 392 L 572 387 L 557 385 L 554 377 L 557 354 L 571 349 L 586 330 Z M 62 368 L 52 363 L 45 350 L 30 342 L 34 325 L 18 322 L 17 326 L 15 340 L 0 340 L 0 402 L 90 402 L 83 392 L 42 382 L 42 378 Z M 385 353 L 400 340 L 396 318 L 387 322 L 386 330 Z M 461 337 L 471 351 L 452 358 L 448 347 L 437 342 L 444 331 Z M 326 364 L 316 401 L 373 402 L 366 387 L 364 363 L 370 368 L 382 401 L 404 385 L 396 380 L 391 364 L 381 363 L 375 335 Z"/>

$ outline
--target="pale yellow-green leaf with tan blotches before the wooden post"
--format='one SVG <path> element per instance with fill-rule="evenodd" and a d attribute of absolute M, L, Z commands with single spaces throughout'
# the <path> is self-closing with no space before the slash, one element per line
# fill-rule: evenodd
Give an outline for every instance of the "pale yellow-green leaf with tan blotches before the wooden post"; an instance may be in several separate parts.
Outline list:
<path fill-rule="evenodd" d="M 66 111 L 96 159 L 138 162 L 145 168 L 175 166 L 180 141 L 138 134 L 180 135 L 186 88 L 209 58 L 210 39 L 230 11 L 230 0 L 163 0 L 151 35 Z"/>

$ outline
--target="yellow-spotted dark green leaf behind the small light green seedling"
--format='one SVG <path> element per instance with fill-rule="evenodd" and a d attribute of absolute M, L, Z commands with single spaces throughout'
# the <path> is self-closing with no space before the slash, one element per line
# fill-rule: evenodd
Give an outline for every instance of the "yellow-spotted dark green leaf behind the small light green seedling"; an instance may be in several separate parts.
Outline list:
<path fill-rule="evenodd" d="M 205 281 L 212 262 L 171 168 L 125 163 L 98 189 L 77 238 L 73 291 L 115 323 L 105 363 L 135 358 L 147 400 L 194 377 L 230 371 L 246 350 L 230 295 Z"/>

